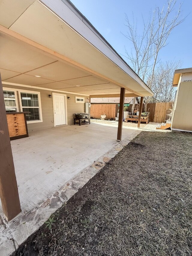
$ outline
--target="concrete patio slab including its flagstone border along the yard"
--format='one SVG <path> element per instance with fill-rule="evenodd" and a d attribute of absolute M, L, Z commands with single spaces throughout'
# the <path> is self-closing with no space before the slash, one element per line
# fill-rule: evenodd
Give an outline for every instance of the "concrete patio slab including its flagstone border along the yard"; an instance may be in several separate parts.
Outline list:
<path fill-rule="evenodd" d="M 1 256 L 10 255 L 139 133 L 123 129 L 119 143 L 117 127 L 91 123 L 11 141 L 22 212 L 7 222 L 0 205 Z"/>

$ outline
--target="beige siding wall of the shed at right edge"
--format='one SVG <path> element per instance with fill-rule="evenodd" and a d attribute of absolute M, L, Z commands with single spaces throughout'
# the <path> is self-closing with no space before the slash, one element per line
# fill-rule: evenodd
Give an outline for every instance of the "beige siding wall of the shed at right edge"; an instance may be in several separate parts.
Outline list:
<path fill-rule="evenodd" d="M 181 82 L 178 89 L 172 130 L 192 131 L 192 82 Z"/>

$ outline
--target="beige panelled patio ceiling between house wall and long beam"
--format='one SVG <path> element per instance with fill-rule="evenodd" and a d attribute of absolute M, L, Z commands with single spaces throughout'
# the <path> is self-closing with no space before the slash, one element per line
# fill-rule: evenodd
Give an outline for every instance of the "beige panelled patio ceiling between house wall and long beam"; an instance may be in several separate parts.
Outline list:
<path fill-rule="evenodd" d="M 4 35 L 1 35 L 0 63 L 1 79 L 6 83 L 86 95 L 120 92 L 119 86 L 107 80 L 46 56 L 34 47 Z"/>

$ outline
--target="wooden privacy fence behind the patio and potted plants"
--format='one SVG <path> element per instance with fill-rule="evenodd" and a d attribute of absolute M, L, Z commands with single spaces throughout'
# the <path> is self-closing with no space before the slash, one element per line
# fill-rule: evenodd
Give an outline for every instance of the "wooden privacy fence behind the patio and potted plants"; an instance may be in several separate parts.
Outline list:
<path fill-rule="evenodd" d="M 135 104 L 134 110 L 139 110 L 140 104 Z M 168 109 L 173 108 L 172 102 L 159 102 L 159 103 L 148 103 L 147 111 L 150 112 L 149 122 L 158 122 L 162 123 L 166 120 L 166 113 Z M 101 115 L 106 114 L 106 119 L 113 118 L 117 116 L 119 109 L 119 104 L 114 103 L 91 103 L 91 117 L 101 118 Z M 145 110 L 145 105 L 142 106 L 142 112 Z M 132 112 L 132 104 L 130 104 L 129 112 Z"/>

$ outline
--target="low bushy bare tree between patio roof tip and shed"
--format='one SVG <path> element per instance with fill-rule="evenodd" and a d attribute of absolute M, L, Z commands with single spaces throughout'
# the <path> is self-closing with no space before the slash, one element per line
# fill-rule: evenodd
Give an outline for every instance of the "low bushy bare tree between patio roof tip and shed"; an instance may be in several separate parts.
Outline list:
<path fill-rule="evenodd" d="M 151 89 L 154 92 L 154 96 L 149 98 L 148 102 L 171 102 L 175 98 L 175 88 L 173 87 L 173 75 L 174 71 L 181 66 L 181 62 L 169 61 L 159 63 L 158 69 L 152 75 L 149 76 L 149 80 L 152 81 Z"/>

